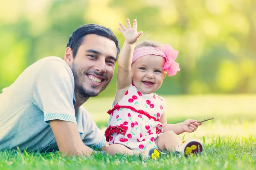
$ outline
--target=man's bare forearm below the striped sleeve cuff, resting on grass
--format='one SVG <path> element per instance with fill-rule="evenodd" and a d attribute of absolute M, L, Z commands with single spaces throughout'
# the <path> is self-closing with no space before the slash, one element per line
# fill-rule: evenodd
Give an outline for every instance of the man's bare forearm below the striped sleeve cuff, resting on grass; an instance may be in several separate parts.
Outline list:
<path fill-rule="evenodd" d="M 91 155 L 93 150 L 82 142 L 76 124 L 62 120 L 51 120 L 49 124 L 62 155 Z"/>

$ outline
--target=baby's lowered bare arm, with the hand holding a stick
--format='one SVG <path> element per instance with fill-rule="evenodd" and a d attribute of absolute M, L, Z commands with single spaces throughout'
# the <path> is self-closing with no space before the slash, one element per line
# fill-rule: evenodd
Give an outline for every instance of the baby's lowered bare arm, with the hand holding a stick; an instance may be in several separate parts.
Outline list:
<path fill-rule="evenodd" d="M 180 135 L 183 132 L 194 132 L 197 129 L 197 127 L 202 124 L 197 123 L 196 120 L 192 119 L 187 119 L 184 122 L 176 124 L 168 124 L 165 113 L 163 113 L 162 116 L 160 117 L 160 122 L 163 125 L 163 132 L 173 131 L 177 135 Z M 192 123 L 195 123 L 195 125 L 193 125 Z"/>

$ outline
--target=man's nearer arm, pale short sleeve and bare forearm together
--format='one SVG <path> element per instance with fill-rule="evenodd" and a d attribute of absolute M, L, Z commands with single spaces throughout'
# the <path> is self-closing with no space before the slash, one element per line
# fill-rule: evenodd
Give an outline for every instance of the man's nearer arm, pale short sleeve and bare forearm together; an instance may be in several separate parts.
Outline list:
<path fill-rule="evenodd" d="M 90 155 L 80 136 L 73 105 L 74 80 L 71 69 L 58 59 L 50 59 L 38 71 L 32 88 L 32 103 L 44 113 L 59 150 L 67 155 Z"/>

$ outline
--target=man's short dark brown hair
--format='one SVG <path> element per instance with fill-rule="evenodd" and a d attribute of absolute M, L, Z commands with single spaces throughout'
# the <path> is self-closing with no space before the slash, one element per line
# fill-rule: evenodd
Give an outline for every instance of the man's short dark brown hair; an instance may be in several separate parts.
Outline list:
<path fill-rule="evenodd" d="M 80 26 L 77 28 L 72 35 L 70 35 L 70 38 L 67 43 L 67 47 L 70 47 L 73 51 L 73 58 L 76 57 L 76 53 L 78 51 L 78 48 L 82 44 L 84 37 L 88 34 L 96 34 L 99 36 L 106 37 L 116 44 L 116 57 L 118 56 L 120 52 L 119 48 L 119 41 L 117 40 L 114 33 L 111 31 L 111 29 L 106 28 L 105 26 L 100 26 L 97 24 L 85 24 L 83 26 Z"/>

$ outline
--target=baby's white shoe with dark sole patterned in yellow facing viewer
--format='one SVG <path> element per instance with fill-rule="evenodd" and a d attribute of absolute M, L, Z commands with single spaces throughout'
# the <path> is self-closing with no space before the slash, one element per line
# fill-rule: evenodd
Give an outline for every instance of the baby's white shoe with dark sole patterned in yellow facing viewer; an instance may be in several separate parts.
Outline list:
<path fill-rule="evenodd" d="M 178 155 L 200 155 L 203 151 L 203 146 L 197 139 L 188 139 L 182 141 L 182 144 L 177 146 L 176 152 Z"/>

